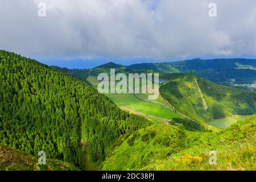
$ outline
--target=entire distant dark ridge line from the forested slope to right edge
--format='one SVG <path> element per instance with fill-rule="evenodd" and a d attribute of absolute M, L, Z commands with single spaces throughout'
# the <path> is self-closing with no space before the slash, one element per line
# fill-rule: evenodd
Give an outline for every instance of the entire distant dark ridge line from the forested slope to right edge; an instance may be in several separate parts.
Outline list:
<path fill-rule="evenodd" d="M 140 63 L 129 66 L 110 62 L 92 69 L 68 69 L 55 66 L 52 66 L 52 68 L 68 73 L 85 82 L 87 82 L 86 78 L 88 75 L 98 76 L 100 73 L 109 75 L 111 68 L 115 69 L 116 73 L 125 74 L 193 72 L 200 77 L 218 84 L 256 90 L 255 59 L 192 59 L 170 63 Z"/>

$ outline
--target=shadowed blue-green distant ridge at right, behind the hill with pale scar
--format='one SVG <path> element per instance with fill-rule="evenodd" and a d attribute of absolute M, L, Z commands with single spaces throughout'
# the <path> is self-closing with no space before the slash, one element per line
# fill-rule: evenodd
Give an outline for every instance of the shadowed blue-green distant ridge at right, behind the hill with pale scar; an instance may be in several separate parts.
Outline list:
<path fill-rule="evenodd" d="M 217 84 L 256 90 L 256 60 L 192 59 L 171 63 L 141 63 L 127 67 L 134 71 L 149 69 L 159 73 L 196 73 Z"/>

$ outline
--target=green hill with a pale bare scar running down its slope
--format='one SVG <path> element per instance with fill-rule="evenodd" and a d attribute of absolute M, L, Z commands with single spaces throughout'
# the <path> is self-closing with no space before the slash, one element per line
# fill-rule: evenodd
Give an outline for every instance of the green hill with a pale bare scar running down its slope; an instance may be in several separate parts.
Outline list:
<path fill-rule="evenodd" d="M 193 73 L 168 73 L 161 78 L 167 80 L 160 86 L 162 97 L 197 121 L 256 113 L 256 92 L 218 85 Z"/>

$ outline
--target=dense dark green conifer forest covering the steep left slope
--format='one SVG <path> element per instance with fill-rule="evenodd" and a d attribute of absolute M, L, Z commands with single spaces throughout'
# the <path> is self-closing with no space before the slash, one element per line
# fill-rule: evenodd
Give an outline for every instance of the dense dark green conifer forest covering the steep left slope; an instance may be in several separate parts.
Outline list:
<path fill-rule="evenodd" d="M 150 125 L 35 60 L 0 51 L 0 72 L 0 142 L 28 154 L 46 151 L 47 158 L 83 168 L 87 157 L 104 160 L 120 135 Z"/>

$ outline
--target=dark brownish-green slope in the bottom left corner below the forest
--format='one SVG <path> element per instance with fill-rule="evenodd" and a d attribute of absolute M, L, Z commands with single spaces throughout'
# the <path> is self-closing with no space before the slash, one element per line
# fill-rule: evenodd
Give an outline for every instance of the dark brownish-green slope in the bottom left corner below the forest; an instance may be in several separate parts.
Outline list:
<path fill-rule="evenodd" d="M 73 164 L 48 159 L 39 165 L 38 158 L 0 144 L 0 171 L 77 171 Z"/>

